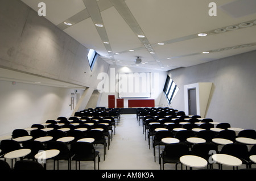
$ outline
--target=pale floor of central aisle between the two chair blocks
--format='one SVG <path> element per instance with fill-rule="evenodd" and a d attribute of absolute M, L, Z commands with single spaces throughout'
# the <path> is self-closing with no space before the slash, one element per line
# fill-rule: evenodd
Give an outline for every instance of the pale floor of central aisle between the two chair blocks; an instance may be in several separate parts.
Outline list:
<path fill-rule="evenodd" d="M 101 170 L 159 170 L 154 162 L 153 149 L 148 149 L 148 140 L 144 140 L 142 126 L 136 115 L 122 115 L 116 125 L 113 141 L 110 142 L 105 161 L 101 156 Z"/>

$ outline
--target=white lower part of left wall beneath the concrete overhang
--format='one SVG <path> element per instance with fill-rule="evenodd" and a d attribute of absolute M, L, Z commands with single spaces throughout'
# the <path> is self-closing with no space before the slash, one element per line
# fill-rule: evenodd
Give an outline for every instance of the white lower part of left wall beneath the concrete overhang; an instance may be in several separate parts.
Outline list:
<path fill-rule="evenodd" d="M 0 81 L 0 136 L 17 128 L 71 116 L 73 89 Z M 82 95 L 83 90 L 77 90 Z M 76 104 L 76 96 L 75 104 Z"/>

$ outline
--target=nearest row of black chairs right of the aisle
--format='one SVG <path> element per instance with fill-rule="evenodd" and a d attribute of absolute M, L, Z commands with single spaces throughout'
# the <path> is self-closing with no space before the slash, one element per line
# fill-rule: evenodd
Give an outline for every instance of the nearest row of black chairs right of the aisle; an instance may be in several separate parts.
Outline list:
<path fill-rule="evenodd" d="M 254 162 L 251 162 L 249 157 L 250 155 L 256 154 L 256 145 L 254 145 L 250 151 L 247 150 L 247 146 L 245 144 L 233 143 L 224 145 L 221 151 L 218 151 L 218 147 L 213 142 L 205 142 L 193 145 L 192 149 L 189 150 L 189 146 L 184 142 L 179 142 L 176 144 L 167 144 L 164 147 L 164 150 L 160 154 L 160 169 L 164 169 L 165 163 L 175 163 L 175 169 L 177 169 L 177 165 L 180 163 L 180 157 L 183 155 L 196 155 L 201 158 L 204 158 L 208 161 L 207 168 L 213 169 L 214 162 L 212 161 L 212 154 L 221 153 L 228 154 L 234 157 L 241 159 L 242 164 L 246 165 L 247 169 L 251 168 L 251 165 Z M 182 165 L 181 165 L 182 169 Z M 218 169 L 222 169 L 221 165 L 218 164 Z"/>

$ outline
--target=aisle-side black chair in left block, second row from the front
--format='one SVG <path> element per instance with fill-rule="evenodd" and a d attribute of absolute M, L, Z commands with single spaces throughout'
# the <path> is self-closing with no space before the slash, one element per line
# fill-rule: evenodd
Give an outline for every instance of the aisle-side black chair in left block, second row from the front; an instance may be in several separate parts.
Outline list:
<path fill-rule="evenodd" d="M 106 154 L 106 139 L 104 134 L 101 131 L 98 130 L 90 130 L 87 132 L 86 137 L 88 138 L 94 138 L 93 145 L 103 145 L 103 150 L 104 150 L 104 161 L 105 161 L 105 154 Z"/>

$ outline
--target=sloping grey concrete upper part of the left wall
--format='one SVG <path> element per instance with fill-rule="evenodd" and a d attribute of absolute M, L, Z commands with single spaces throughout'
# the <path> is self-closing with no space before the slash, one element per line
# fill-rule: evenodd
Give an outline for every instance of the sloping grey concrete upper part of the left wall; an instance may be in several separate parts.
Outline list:
<path fill-rule="evenodd" d="M 90 71 L 88 49 L 18 0 L 0 1 L 0 66 L 86 87 L 109 64 Z"/>

